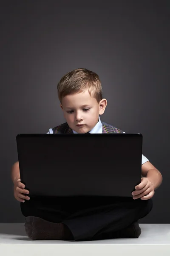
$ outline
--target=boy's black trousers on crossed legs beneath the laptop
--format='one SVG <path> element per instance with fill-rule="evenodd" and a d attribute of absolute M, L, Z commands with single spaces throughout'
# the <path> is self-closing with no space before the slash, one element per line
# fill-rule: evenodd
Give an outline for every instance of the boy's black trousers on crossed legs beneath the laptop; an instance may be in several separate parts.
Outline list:
<path fill-rule="evenodd" d="M 153 208 L 152 199 L 132 197 L 31 197 L 21 203 L 22 214 L 64 223 L 76 241 L 122 230 L 144 218 Z"/>

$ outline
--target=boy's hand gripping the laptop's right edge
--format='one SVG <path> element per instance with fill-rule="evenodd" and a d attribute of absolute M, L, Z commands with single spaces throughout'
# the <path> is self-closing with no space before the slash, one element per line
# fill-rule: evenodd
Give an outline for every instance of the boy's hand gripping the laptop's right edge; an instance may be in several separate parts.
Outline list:
<path fill-rule="evenodd" d="M 154 187 L 151 181 L 143 177 L 141 183 L 135 187 L 135 191 L 132 192 L 133 199 L 141 198 L 142 200 L 148 200 L 155 194 Z"/>

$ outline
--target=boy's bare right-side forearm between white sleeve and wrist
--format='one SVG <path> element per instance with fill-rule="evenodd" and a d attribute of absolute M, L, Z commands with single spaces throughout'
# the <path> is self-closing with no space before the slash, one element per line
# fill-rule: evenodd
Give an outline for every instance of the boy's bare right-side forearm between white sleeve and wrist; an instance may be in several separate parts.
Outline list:
<path fill-rule="evenodd" d="M 149 161 L 142 164 L 142 176 L 147 177 L 150 180 L 154 189 L 157 189 L 162 183 L 161 173 Z"/>

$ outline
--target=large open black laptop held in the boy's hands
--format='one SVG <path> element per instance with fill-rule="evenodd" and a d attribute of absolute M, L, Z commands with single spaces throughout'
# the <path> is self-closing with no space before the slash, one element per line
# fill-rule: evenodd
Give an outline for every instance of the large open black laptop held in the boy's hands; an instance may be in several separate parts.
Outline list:
<path fill-rule="evenodd" d="M 141 182 L 142 134 L 18 134 L 29 196 L 132 197 Z"/>

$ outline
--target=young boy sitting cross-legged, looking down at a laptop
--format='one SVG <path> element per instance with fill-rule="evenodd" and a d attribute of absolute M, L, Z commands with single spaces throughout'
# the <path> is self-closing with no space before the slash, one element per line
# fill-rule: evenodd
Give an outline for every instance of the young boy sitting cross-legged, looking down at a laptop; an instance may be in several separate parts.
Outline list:
<path fill-rule="evenodd" d="M 123 133 L 100 120 L 99 115 L 105 112 L 107 100 L 102 99 L 102 86 L 96 73 L 87 69 L 72 70 L 62 77 L 57 89 L 66 122 L 49 129 L 48 133 Z M 99 157 L 102 157 L 100 150 Z M 151 198 L 162 182 L 161 173 L 143 155 L 142 176 L 133 197 L 29 198 L 26 195 L 29 191 L 20 182 L 18 162 L 11 170 L 14 197 L 24 202 L 21 211 L 26 217 L 25 229 L 33 240 L 138 238 L 141 234 L 138 220 L 151 211 Z M 56 180 L 56 186 L 58 182 Z"/>

